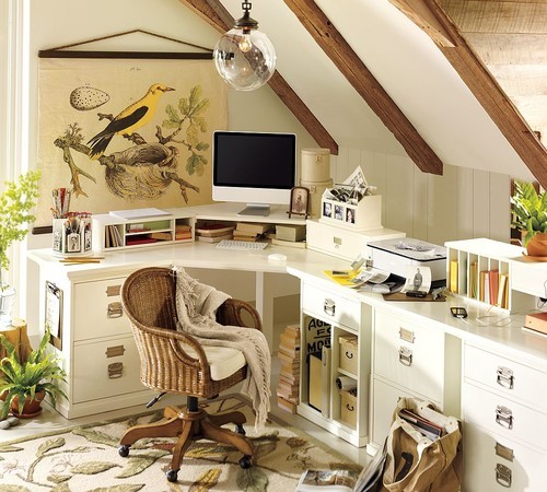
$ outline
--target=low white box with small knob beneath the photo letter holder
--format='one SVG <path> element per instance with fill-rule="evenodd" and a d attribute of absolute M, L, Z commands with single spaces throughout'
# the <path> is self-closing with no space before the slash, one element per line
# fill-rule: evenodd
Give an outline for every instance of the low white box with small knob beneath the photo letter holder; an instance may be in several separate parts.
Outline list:
<path fill-rule="evenodd" d="M 380 227 L 370 231 L 349 231 L 323 222 L 306 221 L 307 248 L 326 253 L 347 260 L 354 260 L 359 255 L 368 258 L 371 253 L 366 243 L 370 241 L 405 237 L 405 233 Z"/>

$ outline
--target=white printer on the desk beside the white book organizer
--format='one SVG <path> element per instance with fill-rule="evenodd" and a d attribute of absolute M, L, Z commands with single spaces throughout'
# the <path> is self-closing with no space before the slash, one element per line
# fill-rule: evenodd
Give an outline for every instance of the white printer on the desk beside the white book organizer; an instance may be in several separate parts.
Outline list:
<path fill-rule="evenodd" d="M 428 267 L 432 286 L 446 284 L 446 248 L 411 237 L 366 243 L 372 267 L 406 278 L 408 267 Z"/>

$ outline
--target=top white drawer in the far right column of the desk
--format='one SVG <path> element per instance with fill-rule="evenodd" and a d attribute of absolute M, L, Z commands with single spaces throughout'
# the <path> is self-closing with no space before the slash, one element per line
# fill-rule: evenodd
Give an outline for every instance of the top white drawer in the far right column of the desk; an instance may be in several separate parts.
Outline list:
<path fill-rule="evenodd" d="M 493 390 L 547 411 L 547 374 L 473 345 L 465 345 L 464 375 Z"/>

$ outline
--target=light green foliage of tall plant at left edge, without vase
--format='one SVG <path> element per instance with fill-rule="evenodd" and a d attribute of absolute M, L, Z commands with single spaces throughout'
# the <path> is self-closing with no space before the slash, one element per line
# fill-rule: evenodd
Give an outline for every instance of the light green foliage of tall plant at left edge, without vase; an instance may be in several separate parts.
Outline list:
<path fill-rule="evenodd" d="M 0 195 L 0 271 L 8 269 L 8 248 L 28 234 L 28 223 L 35 220 L 31 213 L 38 198 L 39 171 L 30 171 L 18 181 L 7 181 Z M 1 278 L 0 278 L 1 281 Z"/>

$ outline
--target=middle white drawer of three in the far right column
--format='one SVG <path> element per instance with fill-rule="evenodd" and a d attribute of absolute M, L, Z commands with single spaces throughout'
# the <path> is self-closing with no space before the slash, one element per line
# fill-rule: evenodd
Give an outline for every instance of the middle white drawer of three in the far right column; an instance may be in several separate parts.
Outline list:
<path fill-rule="evenodd" d="M 465 422 L 474 422 L 507 440 L 547 449 L 544 413 L 466 382 L 462 386 L 462 398 Z"/>

